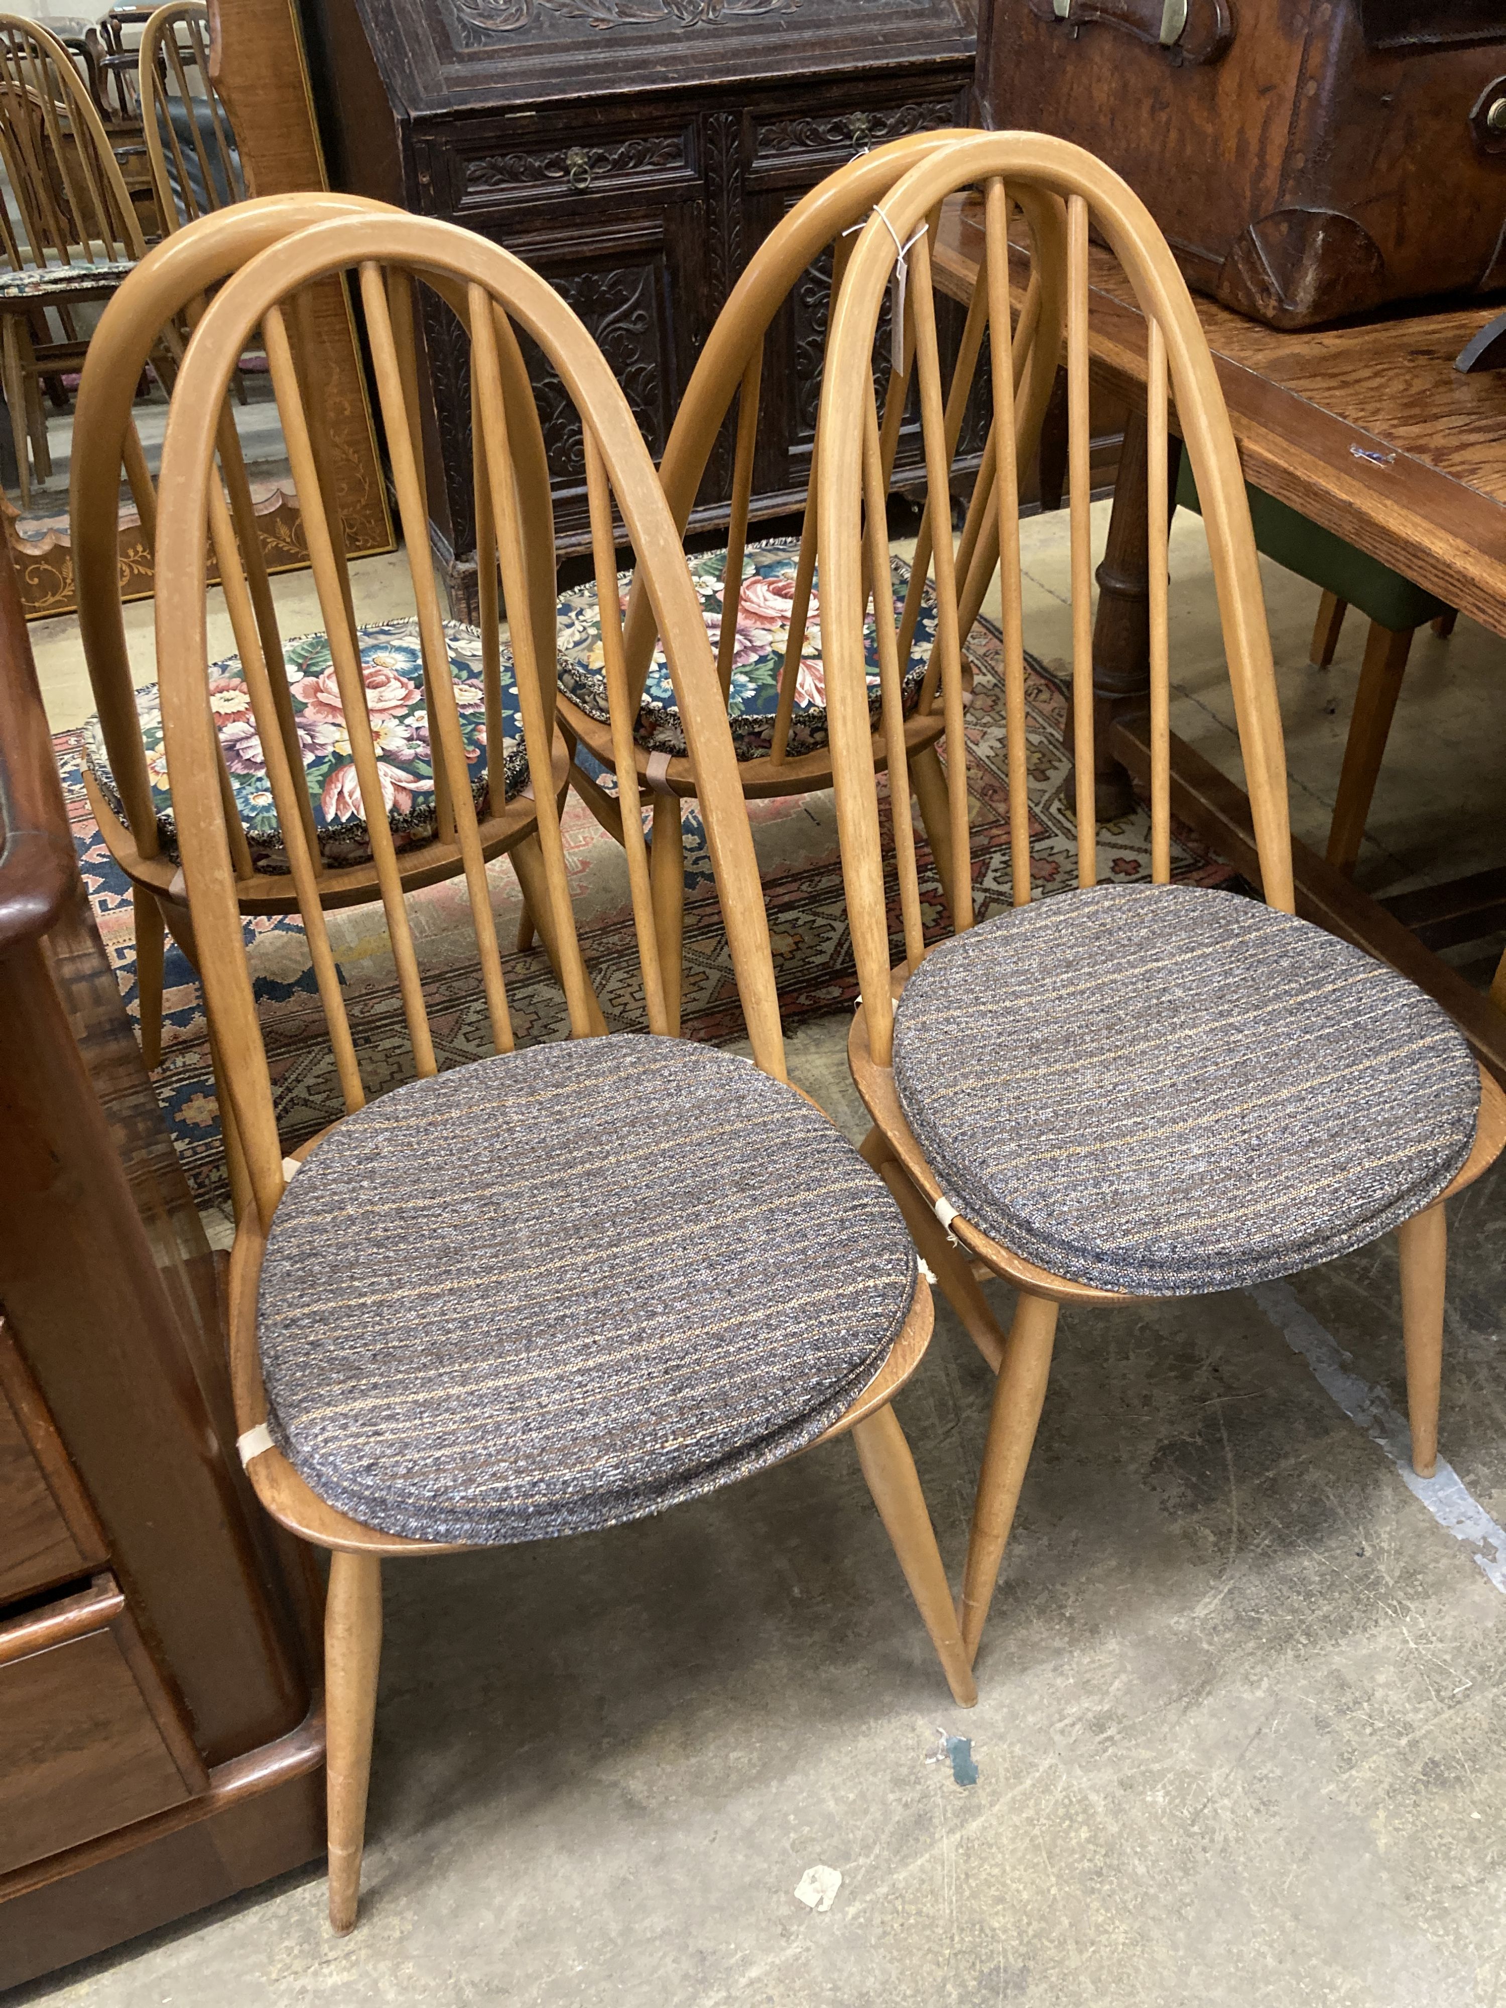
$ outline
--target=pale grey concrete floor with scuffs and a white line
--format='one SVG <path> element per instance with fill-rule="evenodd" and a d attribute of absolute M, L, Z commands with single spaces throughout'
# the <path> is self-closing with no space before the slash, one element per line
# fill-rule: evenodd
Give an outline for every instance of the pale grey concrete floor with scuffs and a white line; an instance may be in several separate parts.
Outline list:
<path fill-rule="evenodd" d="M 1046 657 L 1062 530 L 1026 528 Z M 1231 763 L 1185 524 L 1175 572 L 1175 723 Z M 1267 588 L 1293 821 L 1321 841 L 1359 622 L 1319 675 L 1311 588 Z M 68 723 L 66 635 L 40 639 Z M 1420 641 L 1367 884 L 1502 861 L 1500 673 L 1468 624 Z M 843 1032 L 797 1034 L 791 1070 L 859 1135 Z M 1066 1311 L 974 1711 L 845 1444 L 633 1528 L 390 1564 L 359 1930 L 329 1936 L 309 1873 L 14 1998 L 1506 2002 L 1500 1201 L 1488 1177 L 1452 1213 L 1428 1486 L 1390 1243 L 1253 1295 Z M 988 1398 L 942 1313 L 898 1406 L 954 1580 Z M 795 1896 L 813 1867 L 841 1877 L 825 1912 Z"/>

